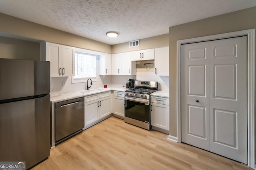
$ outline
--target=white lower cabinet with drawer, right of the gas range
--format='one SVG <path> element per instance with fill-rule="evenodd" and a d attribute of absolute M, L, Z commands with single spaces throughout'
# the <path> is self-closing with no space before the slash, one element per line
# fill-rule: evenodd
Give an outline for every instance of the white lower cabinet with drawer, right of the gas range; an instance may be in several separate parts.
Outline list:
<path fill-rule="evenodd" d="M 151 125 L 169 131 L 169 98 L 151 96 Z"/>

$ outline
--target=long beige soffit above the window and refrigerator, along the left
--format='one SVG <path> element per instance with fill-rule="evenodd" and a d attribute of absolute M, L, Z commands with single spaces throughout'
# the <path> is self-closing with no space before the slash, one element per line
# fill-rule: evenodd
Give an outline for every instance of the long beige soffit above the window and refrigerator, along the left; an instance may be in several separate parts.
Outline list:
<path fill-rule="evenodd" d="M 0 21 L 0 35 L 34 39 L 37 42 L 48 41 L 83 49 L 111 53 L 111 45 L 8 16 L 6 14 L 0 13 Z"/>

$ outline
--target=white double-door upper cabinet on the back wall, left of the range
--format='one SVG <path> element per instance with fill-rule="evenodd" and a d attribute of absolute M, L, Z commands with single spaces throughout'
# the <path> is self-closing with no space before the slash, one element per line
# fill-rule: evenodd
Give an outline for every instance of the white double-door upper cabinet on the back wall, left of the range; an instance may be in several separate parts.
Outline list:
<path fill-rule="evenodd" d="M 131 61 L 131 52 L 112 54 L 112 75 L 135 75 L 136 62 Z"/>

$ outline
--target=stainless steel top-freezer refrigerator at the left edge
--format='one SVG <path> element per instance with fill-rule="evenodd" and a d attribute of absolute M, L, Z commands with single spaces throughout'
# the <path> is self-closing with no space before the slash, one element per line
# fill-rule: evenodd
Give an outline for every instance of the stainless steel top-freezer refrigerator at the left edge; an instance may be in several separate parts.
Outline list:
<path fill-rule="evenodd" d="M 50 155 L 50 62 L 0 59 L 0 161 Z"/>

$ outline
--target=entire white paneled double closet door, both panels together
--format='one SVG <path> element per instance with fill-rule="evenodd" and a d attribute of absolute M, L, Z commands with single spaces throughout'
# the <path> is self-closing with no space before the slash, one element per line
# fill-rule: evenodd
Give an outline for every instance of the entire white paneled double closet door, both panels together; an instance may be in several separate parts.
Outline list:
<path fill-rule="evenodd" d="M 182 45 L 182 142 L 247 164 L 247 37 Z"/>

